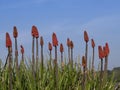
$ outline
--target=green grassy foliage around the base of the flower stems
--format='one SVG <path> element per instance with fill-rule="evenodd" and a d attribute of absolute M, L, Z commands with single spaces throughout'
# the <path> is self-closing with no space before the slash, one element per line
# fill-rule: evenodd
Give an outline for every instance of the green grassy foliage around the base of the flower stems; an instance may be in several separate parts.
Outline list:
<path fill-rule="evenodd" d="M 12 90 L 82 90 L 82 78 L 83 72 L 80 64 L 74 65 L 74 68 L 68 64 L 64 64 L 62 67 L 58 67 L 58 84 L 54 86 L 54 67 L 50 66 L 50 62 L 47 62 L 47 66 L 41 71 L 41 63 L 39 63 L 38 72 L 35 74 L 35 78 L 32 74 L 32 64 L 28 65 L 21 62 L 19 66 L 19 72 L 12 68 Z M 1 66 L 2 67 L 2 66 Z M 42 75 L 41 76 L 41 72 Z M 85 72 L 86 90 L 99 90 L 99 72 L 94 72 L 94 79 L 91 71 Z M 6 66 L 4 69 L 0 68 L 0 90 L 9 90 L 9 68 Z M 114 90 L 115 82 L 112 78 L 107 79 L 104 82 L 101 90 Z"/>

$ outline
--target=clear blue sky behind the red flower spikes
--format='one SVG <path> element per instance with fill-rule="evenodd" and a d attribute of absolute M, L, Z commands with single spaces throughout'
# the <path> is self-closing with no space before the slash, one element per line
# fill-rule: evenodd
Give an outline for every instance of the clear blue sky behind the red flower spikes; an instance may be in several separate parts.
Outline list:
<path fill-rule="evenodd" d="M 64 46 L 67 37 L 72 39 L 75 44 L 74 58 L 84 55 L 83 32 L 86 30 L 96 42 L 95 66 L 100 61 L 97 46 L 103 46 L 106 42 L 111 51 L 109 69 L 120 66 L 119 4 L 120 0 L 0 0 L 0 58 L 4 61 L 7 55 L 5 33 L 9 32 L 14 40 L 13 26 L 17 26 L 19 32 L 18 44 L 25 47 L 25 55 L 30 57 L 31 27 L 36 25 L 40 36 L 44 37 L 45 47 L 51 41 L 53 32 L 56 32 L 59 43 L 64 43 Z M 47 51 L 45 48 L 46 55 Z M 91 54 L 89 42 L 88 58 Z"/>

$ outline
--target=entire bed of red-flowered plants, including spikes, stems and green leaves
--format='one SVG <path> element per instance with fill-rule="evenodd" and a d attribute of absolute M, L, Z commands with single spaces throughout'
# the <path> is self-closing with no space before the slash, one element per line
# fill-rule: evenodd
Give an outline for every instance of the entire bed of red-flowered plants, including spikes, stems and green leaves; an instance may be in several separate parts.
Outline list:
<path fill-rule="evenodd" d="M 114 90 L 116 79 L 114 73 L 108 75 L 108 43 L 104 47 L 98 46 L 100 69 L 94 69 L 94 48 L 95 42 L 91 39 L 93 49 L 92 67 L 88 68 L 88 41 L 87 32 L 84 32 L 85 55 L 82 56 L 82 64 L 74 63 L 73 49 L 74 42 L 67 39 L 68 59 L 63 57 L 64 47 L 60 44 L 61 62 L 58 63 L 58 39 L 55 33 L 52 34 L 52 44 L 48 43 L 50 57 L 44 63 L 44 40 L 40 37 L 41 59 L 38 58 L 39 33 L 36 26 L 32 27 L 32 60 L 24 58 L 24 47 L 21 45 L 21 62 L 18 65 L 17 28 L 14 27 L 15 38 L 15 60 L 12 57 L 12 41 L 9 33 L 6 33 L 6 48 L 8 57 L 5 65 L 0 61 L 0 90 Z M 34 55 L 34 40 L 36 39 L 36 59 Z M 54 48 L 52 48 L 54 47 Z M 54 49 L 54 50 L 53 50 Z M 54 51 L 54 59 L 52 57 Z M 103 64 L 105 60 L 105 64 Z M 68 62 L 67 62 L 68 61 Z M 91 62 L 89 63 L 91 65 Z M 104 68 L 103 68 L 104 66 Z"/>

